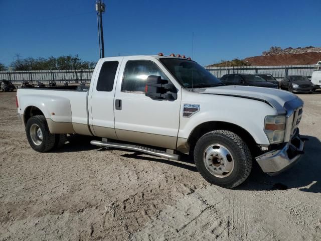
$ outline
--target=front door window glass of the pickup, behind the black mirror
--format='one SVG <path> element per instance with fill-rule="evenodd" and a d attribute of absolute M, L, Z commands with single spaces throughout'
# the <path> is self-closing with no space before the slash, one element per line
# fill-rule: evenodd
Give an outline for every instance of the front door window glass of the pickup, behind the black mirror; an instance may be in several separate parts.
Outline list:
<path fill-rule="evenodd" d="M 149 60 L 129 60 L 126 63 L 122 91 L 144 92 L 146 79 L 149 75 L 158 75 L 168 79 L 158 66 Z"/>

